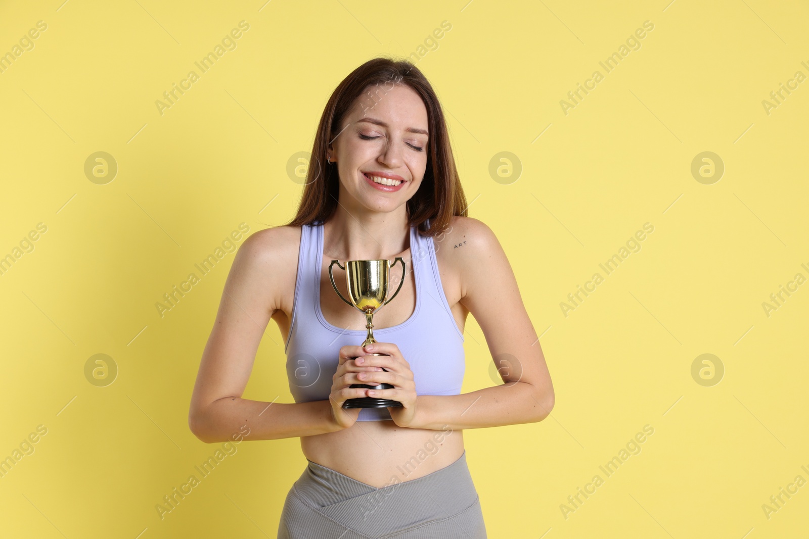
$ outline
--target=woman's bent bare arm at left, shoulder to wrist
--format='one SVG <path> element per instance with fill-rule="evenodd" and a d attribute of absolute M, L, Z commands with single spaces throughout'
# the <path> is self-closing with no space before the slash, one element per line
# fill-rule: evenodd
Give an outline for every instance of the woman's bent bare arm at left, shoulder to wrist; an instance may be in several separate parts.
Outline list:
<path fill-rule="evenodd" d="M 235 255 L 188 411 L 188 427 L 205 443 L 244 436 L 245 425 L 248 440 L 312 436 L 344 428 L 334 419 L 329 401 L 288 404 L 241 398 L 290 274 L 294 283 L 297 230 L 260 230 L 244 240 Z"/>

